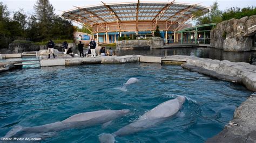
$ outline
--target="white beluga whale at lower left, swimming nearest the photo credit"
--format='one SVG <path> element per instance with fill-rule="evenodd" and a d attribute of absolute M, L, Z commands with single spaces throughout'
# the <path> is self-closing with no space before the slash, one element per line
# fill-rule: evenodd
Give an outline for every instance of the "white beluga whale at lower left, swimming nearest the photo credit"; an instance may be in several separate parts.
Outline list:
<path fill-rule="evenodd" d="M 63 121 L 34 127 L 15 126 L 4 138 L 48 138 L 58 131 L 71 128 L 84 128 L 98 124 L 109 124 L 110 121 L 126 115 L 130 110 L 99 110 L 73 115 Z"/>

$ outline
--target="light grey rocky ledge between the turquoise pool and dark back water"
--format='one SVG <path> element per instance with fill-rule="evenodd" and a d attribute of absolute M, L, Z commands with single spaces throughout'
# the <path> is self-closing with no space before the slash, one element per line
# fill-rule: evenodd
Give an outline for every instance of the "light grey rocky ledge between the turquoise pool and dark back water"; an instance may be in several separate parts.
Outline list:
<path fill-rule="evenodd" d="M 181 67 L 220 80 L 241 83 L 248 90 L 256 91 L 256 66 L 249 63 L 219 61 L 191 56 Z"/>

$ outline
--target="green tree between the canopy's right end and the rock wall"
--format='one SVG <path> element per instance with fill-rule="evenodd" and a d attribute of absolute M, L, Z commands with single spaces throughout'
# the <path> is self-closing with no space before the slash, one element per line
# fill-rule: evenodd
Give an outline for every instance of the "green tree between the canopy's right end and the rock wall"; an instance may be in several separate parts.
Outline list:
<path fill-rule="evenodd" d="M 194 12 L 194 19 L 197 20 L 197 25 L 208 24 L 208 23 L 219 23 L 222 21 L 221 11 L 219 10 L 218 2 L 215 1 L 211 5 L 210 12 L 204 15 L 203 11 Z"/>

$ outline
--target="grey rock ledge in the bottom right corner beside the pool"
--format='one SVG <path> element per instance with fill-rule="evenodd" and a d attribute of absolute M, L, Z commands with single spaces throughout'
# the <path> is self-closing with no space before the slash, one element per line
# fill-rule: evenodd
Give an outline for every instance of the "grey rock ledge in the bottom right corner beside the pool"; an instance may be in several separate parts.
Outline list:
<path fill-rule="evenodd" d="M 206 142 L 256 142 L 256 97 L 249 97 L 234 112 L 224 130 Z"/>

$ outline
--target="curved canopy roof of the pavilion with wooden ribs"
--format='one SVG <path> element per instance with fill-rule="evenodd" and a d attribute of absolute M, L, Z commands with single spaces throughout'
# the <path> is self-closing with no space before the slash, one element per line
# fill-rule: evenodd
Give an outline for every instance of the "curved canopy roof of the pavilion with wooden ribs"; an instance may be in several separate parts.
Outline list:
<path fill-rule="evenodd" d="M 195 11 L 208 12 L 198 4 L 176 2 L 129 2 L 111 3 L 85 7 L 63 12 L 62 17 L 89 25 L 116 22 L 183 22 Z"/>

